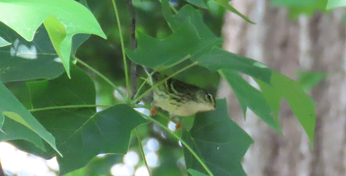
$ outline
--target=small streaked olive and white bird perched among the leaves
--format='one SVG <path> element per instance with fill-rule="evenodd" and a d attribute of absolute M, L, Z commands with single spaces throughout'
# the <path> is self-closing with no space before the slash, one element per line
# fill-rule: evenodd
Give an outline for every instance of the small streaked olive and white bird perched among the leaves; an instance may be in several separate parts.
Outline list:
<path fill-rule="evenodd" d="M 166 78 L 162 74 L 153 74 L 154 84 Z M 151 114 L 155 114 L 156 106 L 173 116 L 189 116 L 197 112 L 215 110 L 215 98 L 206 90 L 185 83 L 173 78 L 160 84 L 153 90 L 153 109 Z"/>

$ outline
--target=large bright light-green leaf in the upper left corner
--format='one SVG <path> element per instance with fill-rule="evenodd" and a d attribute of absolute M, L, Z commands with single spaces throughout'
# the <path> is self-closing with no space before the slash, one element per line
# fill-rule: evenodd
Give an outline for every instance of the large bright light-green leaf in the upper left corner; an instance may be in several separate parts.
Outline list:
<path fill-rule="evenodd" d="M 27 41 L 33 40 L 36 29 L 44 22 L 69 76 L 72 36 L 87 33 L 107 38 L 92 13 L 71 0 L 0 0 L 0 21 Z"/>

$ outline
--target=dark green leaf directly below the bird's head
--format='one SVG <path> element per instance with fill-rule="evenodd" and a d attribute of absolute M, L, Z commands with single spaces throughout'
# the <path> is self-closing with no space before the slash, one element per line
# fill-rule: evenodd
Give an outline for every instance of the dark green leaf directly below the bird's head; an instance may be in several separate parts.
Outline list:
<path fill-rule="evenodd" d="M 241 162 L 253 140 L 230 119 L 225 99 L 216 101 L 216 111 L 196 114 L 192 129 L 183 129 L 182 138 L 215 176 L 246 175 Z M 186 148 L 184 156 L 186 168 L 206 173 Z"/>

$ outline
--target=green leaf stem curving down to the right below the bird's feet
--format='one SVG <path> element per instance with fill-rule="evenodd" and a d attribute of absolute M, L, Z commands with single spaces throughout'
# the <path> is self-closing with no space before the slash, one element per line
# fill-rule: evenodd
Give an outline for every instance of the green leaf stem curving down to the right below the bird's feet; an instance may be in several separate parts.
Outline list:
<path fill-rule="evenodd" d="M 191 154 L 197 159 L 197 161 L 202 165 L 202 167 L 207 171 L 207 173 L 210 175 L 210 176 L 213 176 L 213 174 L 211 173 L 211 171 L 209 170 L 209 168 L 207 167 L 206 164 L 204 164 L 204 162 L 202 161 L 202 159 L 197 155 L 197 153 L 195 153 L 192 148 L 182 139 L 180 138 L 178 135 L 176 135 L 173 131 L 171 131 L 168 127 L 166 127 L 165 125 L 161 124 L 160 122 L 156 121 L 154 118 L 148 116 L 148 115 L 145 115 L 142 113 L 142 115 L 144 117 L 146 117 L 148 120 L 160 125 L 164 130 L 166 130 L 167 132 L 169 132 L 170 134 L 172 134 L 177 140 L 179 140 L 183 146 L 186 147 L 186 149 L 188 149 Z"/>

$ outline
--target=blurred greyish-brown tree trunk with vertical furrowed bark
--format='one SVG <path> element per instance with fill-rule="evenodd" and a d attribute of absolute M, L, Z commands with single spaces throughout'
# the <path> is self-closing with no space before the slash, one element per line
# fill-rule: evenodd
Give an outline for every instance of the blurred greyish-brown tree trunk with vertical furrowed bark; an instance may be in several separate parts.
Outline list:
<path fill-rule="evenodd" d="M 222 83 L 219 97 L 227 98 L 231 117 L 255 141 L 245 155 L 243 167 L 249 176 L 345 176 L 344 10 L 290 20 L 288 10 L 269 4 L 265 0 L 231 1 L 257 24 L 228 12 L 224 48 L 263 62 L 292 79 L 297 70 L 325 71 L 328 76 L 309 93 L 318 103 L 313 150 L 284 100 L 279 115 L 283 137 L 250 111 L 244 121 L 235 95 L 227 83 Z"/>

